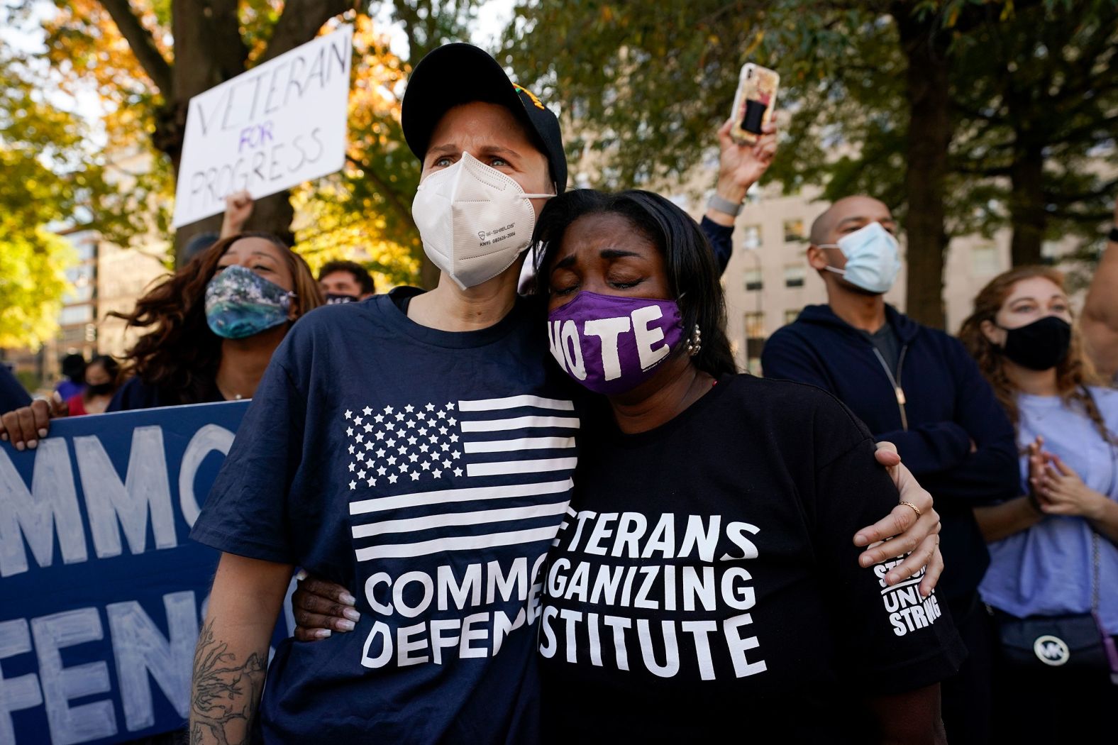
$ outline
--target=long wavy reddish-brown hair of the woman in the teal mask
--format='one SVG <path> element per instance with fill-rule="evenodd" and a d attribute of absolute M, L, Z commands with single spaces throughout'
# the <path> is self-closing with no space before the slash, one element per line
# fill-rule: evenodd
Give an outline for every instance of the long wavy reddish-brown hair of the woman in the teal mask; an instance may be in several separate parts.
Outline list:
<path fill-rule="evenodd" d="M 300 315 L 322 304 L 322 292 L 303 257 L 269 233 L 240 233 L 197 254 L 149 290 L 131 313 L 112 313 L 129 326 L 149 329 L 125 356 L 125 369 L 179 404 L 206 400 L 221 361 L 221 338 L 206 323 L 206 285 L 229 246 L 264 238 L 280 248 L 291 270 Z"/>

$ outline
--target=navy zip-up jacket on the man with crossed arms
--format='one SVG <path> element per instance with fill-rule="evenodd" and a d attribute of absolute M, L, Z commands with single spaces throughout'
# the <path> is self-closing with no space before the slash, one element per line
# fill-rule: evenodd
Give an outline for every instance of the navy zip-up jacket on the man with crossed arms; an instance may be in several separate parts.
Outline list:
<path fill-rule="evenodd" d="M 761 367 L 766 377 L 811 383 L 834 394 L 874 437 L 897 445 L 936 500 L 946 564 L 940 592 L 959 600 L 973 594 L 989 564 L 972 508 L 1021 491 L 1013 426 L 958 339 L 891 305 L 885 319 L 901 343 L 897 377 L 903 396 L 873 343 L 828 305 L 808 305 L 774 333 Z"/>

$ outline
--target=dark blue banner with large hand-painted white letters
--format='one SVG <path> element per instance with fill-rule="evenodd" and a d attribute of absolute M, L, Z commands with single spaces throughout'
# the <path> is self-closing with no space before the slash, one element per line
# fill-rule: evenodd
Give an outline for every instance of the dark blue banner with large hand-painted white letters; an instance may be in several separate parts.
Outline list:
<path fill-rule="evenodd" d="M 0 743 L 183 726 L 218 558 L 188 535 L 247 406 L 59 419 L 36 450 L 2 444 Z"/>

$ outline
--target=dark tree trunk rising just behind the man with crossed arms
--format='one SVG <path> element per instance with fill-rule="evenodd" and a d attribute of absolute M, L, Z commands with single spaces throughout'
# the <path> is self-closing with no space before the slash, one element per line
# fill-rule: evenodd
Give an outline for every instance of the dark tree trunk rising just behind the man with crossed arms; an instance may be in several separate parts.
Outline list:
<path fill-rule="evenodd" d="M 909 102 L 908 195 L 908 308 L 915 320 L 944 328 L 944 228 L 948 147 L 951 141 L 948 87 L 948 37 L 931 15 L 917 18 L 912 3 L 897 2 L 891 13 L 908 59 Z"/>

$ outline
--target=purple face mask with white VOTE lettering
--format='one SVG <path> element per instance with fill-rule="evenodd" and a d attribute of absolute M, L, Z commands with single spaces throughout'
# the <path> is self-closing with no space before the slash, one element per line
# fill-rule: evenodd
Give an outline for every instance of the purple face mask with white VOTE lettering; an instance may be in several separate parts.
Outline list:
<path fill-rule="evenodd" d="M 580 292 L 548 313 L 548 339 L 559 367 L 607 396 L 651 378 L 682 338 L 674 300 Z"/>

